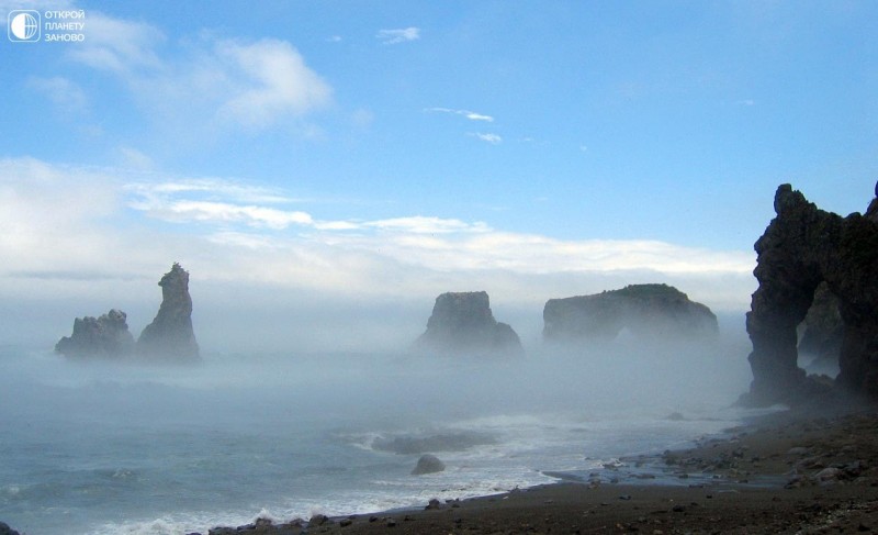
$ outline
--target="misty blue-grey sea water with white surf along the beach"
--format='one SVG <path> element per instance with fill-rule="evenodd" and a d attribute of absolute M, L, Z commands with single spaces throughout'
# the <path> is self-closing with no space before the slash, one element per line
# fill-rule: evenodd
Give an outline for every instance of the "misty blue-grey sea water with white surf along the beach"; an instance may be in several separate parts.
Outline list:
<path fill-rule="evenodd" d="M 747 380 L 717 348 L 156 368 L 5 347 L 0 377 L 0 521 L 27 535 L 206 533 L 547 483 L 736 424 Z M 410 475 L 425 448 L 446 471 Z"/>

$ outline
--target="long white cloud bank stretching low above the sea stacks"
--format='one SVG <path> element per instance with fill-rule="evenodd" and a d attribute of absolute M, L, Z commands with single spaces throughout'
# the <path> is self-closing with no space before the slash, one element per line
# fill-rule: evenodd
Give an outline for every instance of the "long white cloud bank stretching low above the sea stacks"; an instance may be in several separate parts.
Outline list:
<path fill-rule="evenodd" d="M 751 252 L 558 239 L 429 215 L 320 220 L 286 207 L 295 200 L 283 192 L 239 181 L 151 178 L 0 160 L 0 257 L 14 259 L 0 266 L 0 294 L 93 293 L 87 279 L 155 278 L 172 260 L 205 283 L 428 302 L 470 288 L 530 306 L 666 281 L 710 305 L 744 308 L 753 291 Z M 108 298 L 119 293 L 108 285 Z"/>

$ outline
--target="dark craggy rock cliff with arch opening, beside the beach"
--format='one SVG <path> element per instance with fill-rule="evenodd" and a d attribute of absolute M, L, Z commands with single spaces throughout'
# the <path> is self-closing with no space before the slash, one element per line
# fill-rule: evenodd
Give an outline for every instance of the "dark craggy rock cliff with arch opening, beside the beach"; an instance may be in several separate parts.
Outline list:
<path fill-rule="evenodd" d="M 775 213 L 755 244 L 759 282 L 747 313 L 753 343 L 750 404 L 797 402 L 825 390 L 798 367 L 796 327 L 821 283 L 835 298 L 842 321 L 836 382 L 878 395 L 878 199 L 866 215 L 819 210 L 783 185 Z"/>

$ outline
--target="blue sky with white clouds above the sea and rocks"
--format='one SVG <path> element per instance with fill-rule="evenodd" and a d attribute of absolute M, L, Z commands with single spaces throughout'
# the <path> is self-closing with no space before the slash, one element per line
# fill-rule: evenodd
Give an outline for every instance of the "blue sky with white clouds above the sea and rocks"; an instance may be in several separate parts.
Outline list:
<path fill-rule="evenodd" d="M 869 1 L 14 10 L 83 26 L 0 42 L 5 341 L 113 306 L 136 335 L 172 261 L 216 341 L 414 337 L 443 291 L 537 333 L 627 283 L 743 312 L 778 185 L 847 214 L 878 179 Z"/>

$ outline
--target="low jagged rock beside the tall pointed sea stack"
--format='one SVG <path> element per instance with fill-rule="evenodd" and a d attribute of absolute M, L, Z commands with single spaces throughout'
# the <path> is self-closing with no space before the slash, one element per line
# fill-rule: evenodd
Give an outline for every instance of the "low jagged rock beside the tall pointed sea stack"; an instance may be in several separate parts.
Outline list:
<path fill-rule="evenodd" d="M 112 309 L 100 317 L 74 320 L 74 333 L 59 339 L 55 352 L 67 357 L 125 357 L 134 353 L 134 336 L 125 313 Z"/>

